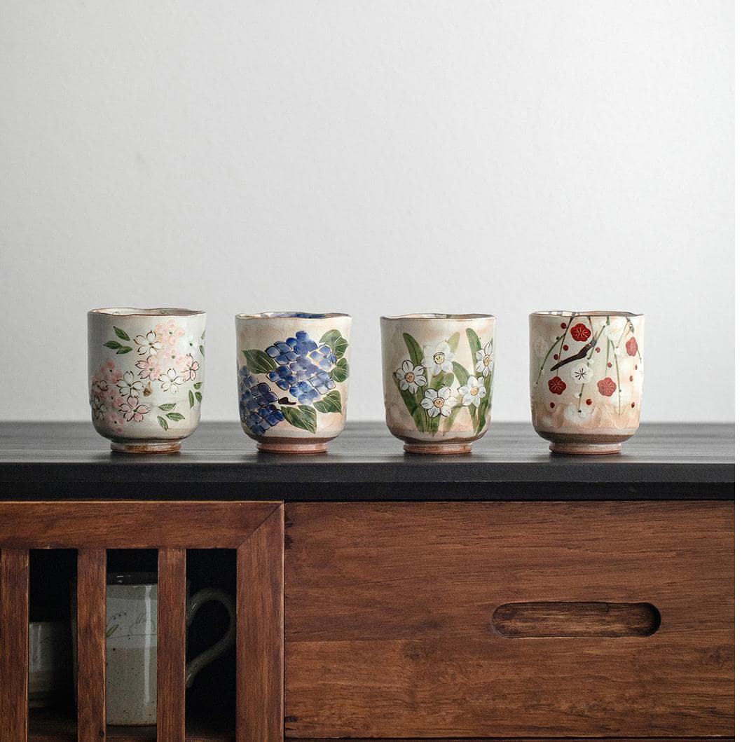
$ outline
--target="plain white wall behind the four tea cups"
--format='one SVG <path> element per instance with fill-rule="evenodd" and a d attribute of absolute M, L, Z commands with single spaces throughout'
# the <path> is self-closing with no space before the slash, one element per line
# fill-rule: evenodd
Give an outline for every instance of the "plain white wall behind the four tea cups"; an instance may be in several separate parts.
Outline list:
<path fill-rule="evenodd" d="M 528 312 L 647 315 L 645 420 L 730 420 L 732 1 L 3 0 L 0 418 L 89 417 L 85 312 L 493 312 L 528 419 Z"/>

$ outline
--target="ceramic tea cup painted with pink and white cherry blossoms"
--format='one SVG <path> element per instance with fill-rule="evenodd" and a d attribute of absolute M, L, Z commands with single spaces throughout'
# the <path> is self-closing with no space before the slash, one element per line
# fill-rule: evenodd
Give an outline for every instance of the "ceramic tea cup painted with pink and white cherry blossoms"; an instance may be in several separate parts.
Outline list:
<path fill-rule="evenodd" d="M 180 450 L 200 419 L 205 343 L 205 312 L 88 312 L 93 425 L 114 451 Z"/>

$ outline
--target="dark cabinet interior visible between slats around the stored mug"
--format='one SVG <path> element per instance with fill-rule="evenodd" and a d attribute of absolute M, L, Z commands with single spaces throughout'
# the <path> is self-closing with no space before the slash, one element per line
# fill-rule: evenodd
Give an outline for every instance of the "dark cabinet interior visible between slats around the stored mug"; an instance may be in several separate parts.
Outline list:
<path fill-rule="evenodd" d="M 70 590 L 76 580 L 77 553 L 74 550 L 30 551 L 29 620 L 59 621 L 70 626 Z M 108 571 L 157 572 L 156 550 L 109 550 Z M 235 597 L 237 565 L 235 552 L 228 549 L 188 550 L 186 580 L 191 595 L 202 588 L 221 588 Z M 212 646 L 224 634 L 229 617 L 215 602 L 206 603 L 194 617 L 187 632 L 186 661 Z M 71 654 L 71 650 L 70 650 Z M 29 739 L 34 742 L 76 740 L 76 709 L 71 671 L 65 673 L 58 691 L 42 708 L 29 711 Z M 185 692 L 186 738 L 231 740 L 235 712 L 234 646 L 197 674 Z M 108 738 L 155 740 L 154 726 L 109 726 Z"/>

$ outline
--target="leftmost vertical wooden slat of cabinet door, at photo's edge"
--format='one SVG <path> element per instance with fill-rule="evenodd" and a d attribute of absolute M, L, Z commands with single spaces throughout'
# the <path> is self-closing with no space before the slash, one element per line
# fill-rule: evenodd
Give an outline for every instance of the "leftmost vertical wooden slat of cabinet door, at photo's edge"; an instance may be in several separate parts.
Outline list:
<path fill-rule="evenodd" d="M 0 741 L 28 732 L 28 551 L 0 553 Z"/>

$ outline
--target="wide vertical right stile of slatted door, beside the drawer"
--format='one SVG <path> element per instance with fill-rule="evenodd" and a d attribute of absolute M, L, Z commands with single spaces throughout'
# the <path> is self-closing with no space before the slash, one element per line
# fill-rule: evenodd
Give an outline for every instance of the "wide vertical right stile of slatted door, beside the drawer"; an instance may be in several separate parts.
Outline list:
<path fill-rule="evenodd" d="M 236 737 L 283 740 L 283 505 L 237 549 Z"/>

